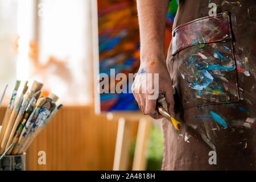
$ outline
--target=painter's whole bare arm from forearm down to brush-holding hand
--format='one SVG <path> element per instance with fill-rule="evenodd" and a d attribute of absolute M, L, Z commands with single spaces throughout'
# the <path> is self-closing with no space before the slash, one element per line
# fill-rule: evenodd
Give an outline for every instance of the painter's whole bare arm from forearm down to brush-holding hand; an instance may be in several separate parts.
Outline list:
<path fill-rule="evenodd" d="M 141 66 L 135 77 L 132 90 L 142 112 L 155 119 L 162 118 L 156 110 L 158 93 L 164 94 L 168 112 L 174 116 L 172 83 L 164 53 L 164 32 L 169 2 L 170 0 L 137 0 Z M 153 78 L 148 73 L 151 73 Z M 159 76 L 157 83 L 154 79 L 156 73 Z M 156 90 L 155 85 L 154 91 L 157 93 L 150 92 L 154 84 L 159 88 Z M 145 90 L 146 92 L 143 92 Z M 153 94 L 157 94 L 157 96 L 152 99 Z"/>

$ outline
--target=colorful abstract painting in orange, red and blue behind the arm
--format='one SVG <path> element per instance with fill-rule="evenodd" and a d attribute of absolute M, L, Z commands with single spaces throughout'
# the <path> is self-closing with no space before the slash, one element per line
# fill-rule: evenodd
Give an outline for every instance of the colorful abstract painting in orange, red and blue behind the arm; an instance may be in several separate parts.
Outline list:
<path fill-rule="evenodd" d="M 167 15 L 166 53 L 171 42 L 171 30 L 177 2 L 171 1 Z M 136 1 L 98 0 L 98 47 L 100 73 L 110 77 L 110 69 L 115 75 L 137 73 L 139 69 L 139 26 Z M 112 90 L 119 81 L 111 83 Z M 137 102 L 127 79 L 127 93 L 100 94 L 101 111 L 136 111 Z M 96 103 L 97 104 L 97 103 Z"/>

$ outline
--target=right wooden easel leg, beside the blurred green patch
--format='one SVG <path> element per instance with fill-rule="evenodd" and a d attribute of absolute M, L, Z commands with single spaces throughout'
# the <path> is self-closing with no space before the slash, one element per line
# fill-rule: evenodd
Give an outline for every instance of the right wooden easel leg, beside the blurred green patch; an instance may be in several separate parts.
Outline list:
<path fill-rule="evenodd" d="M 141 118 L 139 120 L 136 147 L 133 159 L 133 171 L 146 170 L 147 144 L 151 129 L 151 119 Z"/>

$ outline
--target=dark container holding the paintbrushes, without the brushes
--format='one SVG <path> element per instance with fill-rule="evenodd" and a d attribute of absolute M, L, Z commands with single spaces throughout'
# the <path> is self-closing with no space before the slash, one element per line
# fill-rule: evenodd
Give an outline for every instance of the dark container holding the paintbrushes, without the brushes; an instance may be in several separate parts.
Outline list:
<path fill-rule="evenodd" d="M 6 155 L 0 161 L 0 171 L 25 171 L 26 153 L 22 155 Z"/>

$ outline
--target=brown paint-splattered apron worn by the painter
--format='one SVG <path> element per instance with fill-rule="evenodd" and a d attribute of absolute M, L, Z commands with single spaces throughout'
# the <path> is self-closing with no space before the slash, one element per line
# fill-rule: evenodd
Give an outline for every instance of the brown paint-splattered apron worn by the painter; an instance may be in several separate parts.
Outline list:
<path fill-rule="evenodd" d="M 183 127 L 163 121 L 163 170 L 256 169 L 255 9 L 255 0 L 179 1 L 167 67 Z"/>

